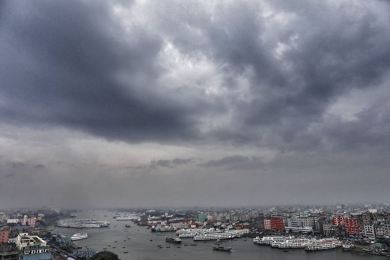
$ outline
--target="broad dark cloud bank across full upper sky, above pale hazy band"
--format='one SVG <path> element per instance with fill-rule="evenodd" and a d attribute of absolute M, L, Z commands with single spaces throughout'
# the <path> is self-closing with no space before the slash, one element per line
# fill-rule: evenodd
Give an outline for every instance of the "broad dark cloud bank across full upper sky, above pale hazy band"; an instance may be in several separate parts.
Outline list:
<path fill-rule="evenodd" d="M 149 7 L 142 14 L 146 26 L 123 25 L 104 1 L 3 2 L 1 121 L 128 142 L 222 140 L 282 150 L 321 147 L 325 139 L 313 134 L 312 124 L 328 127 L 327 140 L 340 128 L 369 139 L 389 133 L 362 127 L 370 118 L 328 125 L 323 117 L 338 96 L 375 89 L 389 74 L 388 2 L 335 8 L 328 1 L 221 1 L 210 10 L 200 2 L 162 1 Z M 216 94 L 196 90 L 191 80 L 186 86 L 175 78 L 173 86 L 159 81 L 172 69 L 157 62 L 167 41 L 214 64 L 222 82 Z M 240 77 L 249 84 L 245 98 L 237 97 Z M 204 128 L 220 116 L 230 119 Z"/>

